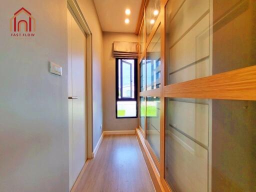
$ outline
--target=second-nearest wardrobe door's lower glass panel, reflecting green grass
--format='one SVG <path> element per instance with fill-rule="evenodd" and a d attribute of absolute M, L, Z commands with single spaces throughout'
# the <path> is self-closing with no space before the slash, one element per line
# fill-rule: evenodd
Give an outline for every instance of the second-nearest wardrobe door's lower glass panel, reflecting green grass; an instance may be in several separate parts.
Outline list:
<path fill-rule="evenodd" d="M 146 139 L 160 159 L 160 98 L 146 97 Z"/>

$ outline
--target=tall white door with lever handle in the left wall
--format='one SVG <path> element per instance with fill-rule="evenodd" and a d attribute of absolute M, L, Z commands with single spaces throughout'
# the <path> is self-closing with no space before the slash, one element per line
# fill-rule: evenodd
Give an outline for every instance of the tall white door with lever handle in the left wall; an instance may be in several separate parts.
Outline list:
<path fill-rule="evenodd" d="M 69 188 L 86 160 L 85 36 L 67 11 L 69 102 Z"/>

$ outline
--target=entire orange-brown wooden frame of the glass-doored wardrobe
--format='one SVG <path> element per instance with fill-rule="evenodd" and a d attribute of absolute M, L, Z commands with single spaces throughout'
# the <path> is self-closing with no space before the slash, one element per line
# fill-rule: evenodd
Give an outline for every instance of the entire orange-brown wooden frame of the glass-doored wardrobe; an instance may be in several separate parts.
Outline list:
<path fill-rule="evenodd" d="M 171 191 L 164 179 L 164 126 L 165 126 L 165 98 L 206 98 L 206 99 L 235 99 L 235 100 L 256 100 L 256 65 L 230 70 L 202 78 L 196 78 L 184 82 L 167 85 L 165 83 L 165 5 L 168 0 L 160 0 L 160 13 L 146 39 L 145 13 L 148 0 L 142 0 L 139 18 L 137 21 L 136 34 L 140 42 L 139 34 L 144 27 L 144 50 L 139 53 L 138 58 L 138 106 L 140 96 L 160 97 L 160 161 L 158 162 L 151 146 L 146 140 L 146 115 L 144 131 L 139 126 L 136 134 L 142 148 L 149 173 L 156 191 Z M 140 87 L 140 62 L 146 58 L 148 47 L 154 33 L 160 25 L 161 34 L 161 77 L 160 88 L 139 92 Z M 140 44 L 139 44 L 140 46 Z M 140 50 L 140 47 L 139 47 Z M 256 63 L 255 63 L 256 64 Z M 139 110 L 138 110 L 139 112 Z M 138 114 L 139 117 L 139 114 Z M 139 124 L 139 123 L 138 123 Z"/>

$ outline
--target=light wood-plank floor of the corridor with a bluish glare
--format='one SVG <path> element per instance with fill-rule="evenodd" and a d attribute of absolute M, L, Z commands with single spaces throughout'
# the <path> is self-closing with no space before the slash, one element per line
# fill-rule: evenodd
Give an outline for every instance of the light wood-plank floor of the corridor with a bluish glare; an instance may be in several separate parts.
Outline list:
<path fill-rule="evenodd" d="M 76 192 L 155 191 L 135 135 L 104 135 Z"/>

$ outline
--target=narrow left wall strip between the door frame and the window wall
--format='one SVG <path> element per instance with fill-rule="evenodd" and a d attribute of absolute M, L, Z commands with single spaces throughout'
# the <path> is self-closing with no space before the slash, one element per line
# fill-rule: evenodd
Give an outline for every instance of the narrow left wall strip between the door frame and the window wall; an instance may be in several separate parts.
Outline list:
<path fill-rule="evenodd" d="M 92 33 L 93 148 L 102 133 L 102 30 L 93 0 L 77 0 Z"/>

